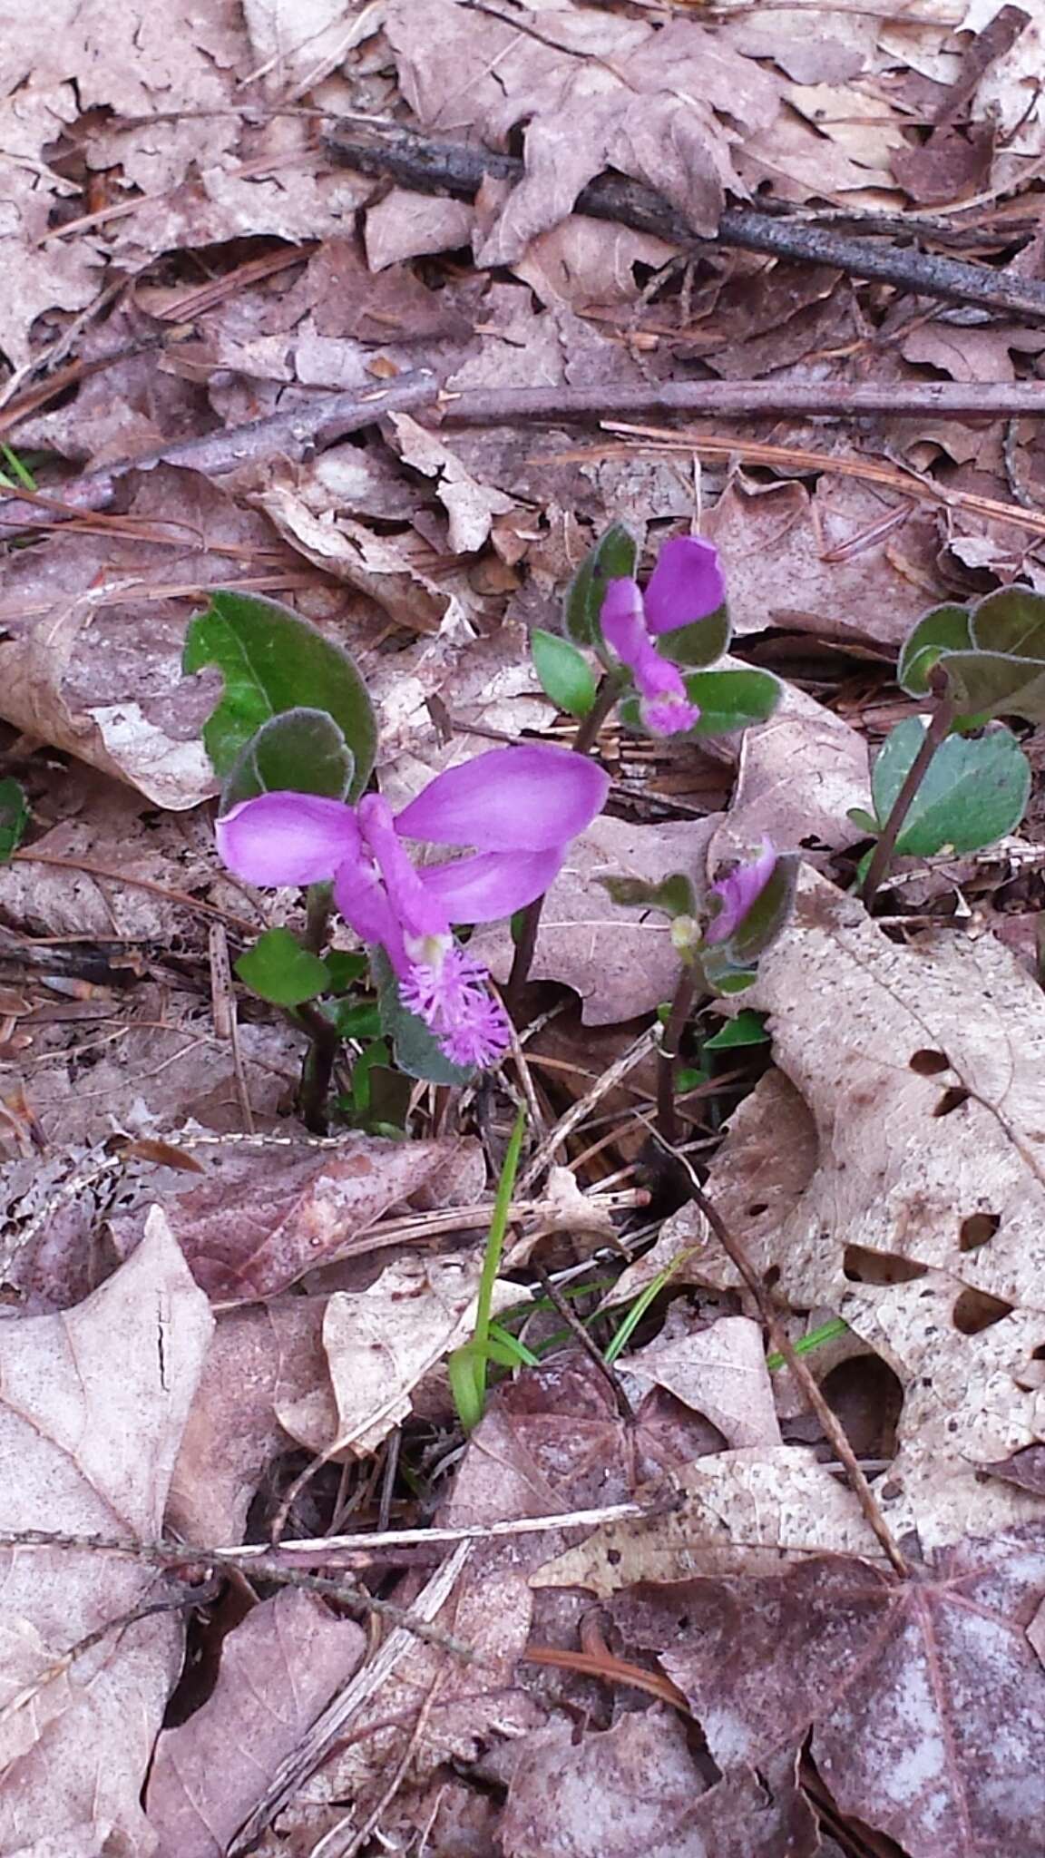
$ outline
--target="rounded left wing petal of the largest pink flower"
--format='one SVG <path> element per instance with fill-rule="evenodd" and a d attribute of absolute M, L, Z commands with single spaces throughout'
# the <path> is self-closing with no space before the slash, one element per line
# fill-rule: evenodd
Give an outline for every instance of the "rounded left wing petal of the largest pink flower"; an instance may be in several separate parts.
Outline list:
<path fill-rule="evenodd" d="M 359 855 L 353 808 L 320 793 L 258 793 L 214 831 L 221 862 L 247 884 L 318 884 Z"/>

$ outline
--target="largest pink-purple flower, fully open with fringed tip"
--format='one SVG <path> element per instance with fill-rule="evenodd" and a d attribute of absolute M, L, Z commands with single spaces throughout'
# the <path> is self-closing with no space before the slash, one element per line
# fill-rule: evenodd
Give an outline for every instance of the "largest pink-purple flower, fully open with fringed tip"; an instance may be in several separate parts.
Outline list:
<path fill-rule="evenodd" d="M 385 949 L 403 1005 L 446 1057 L 487 1066 L 508 1050 L 508 1020 L 450 925 L 496 922 L 539 897 L 571 838 L 602 810 L 608 784 L 569 749 L 493 749 L 437 775 L 396 816 L 379 793 L 357 806 L 318 793 L 242 801 L 218 821 L 218 851 L 249 884 L 333 879 L 344 920 Z M 474 851 L 417 868 L 403 838 Z"/>

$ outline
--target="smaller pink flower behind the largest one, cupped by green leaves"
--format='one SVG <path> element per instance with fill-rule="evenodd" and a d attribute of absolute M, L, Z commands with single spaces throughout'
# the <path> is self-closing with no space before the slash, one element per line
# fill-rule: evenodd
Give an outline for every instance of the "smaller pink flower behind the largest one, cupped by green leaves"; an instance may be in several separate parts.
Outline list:
<path fill-rule="evenodd" d="M 699 719 L 682 673 L 656 650 L 656 639 L 707 619 L 725 600 L 718 550 L 697 535 L 664 543 L 645 593 L 628 578 L 606 587 L 599 624 L 606 645 L 628 667 L 640 715 L 653 736 L 677 736 Z"/>

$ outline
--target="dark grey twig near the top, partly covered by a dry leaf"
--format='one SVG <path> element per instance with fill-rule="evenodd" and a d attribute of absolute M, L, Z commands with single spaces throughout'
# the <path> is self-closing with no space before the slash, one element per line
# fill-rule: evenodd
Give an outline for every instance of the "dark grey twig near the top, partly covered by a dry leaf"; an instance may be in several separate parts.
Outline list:
<path fill-rule="evenodd" d="M 363 175 L 392 177 L 420 191 L 472 197 L 487 175 L 500 180 L 521 180 L 524 175 L 524 164 L 517 156 L 495 154 L 474 143 L 430 141 L 405 128 L 389 130 L 374 124 L 340 128 L 327 136 L 327 149 Z M 844 238 L 749 206 L 727 206 L 718 234 L 701 238 L 660 193 L 636 180 L 601 175 L 591 186 L 582 188 L 575 212 L 591 219 L 615 219 L 673 245 L 705 249 L 731 245 L 770 258 L 829 264 L 853 277 L 894 284 L 922 297 L 974 303 L 1021 321 L 1045 321 L 1045 284 L 1036 279 L 1010 277 L 987 266 L 963 264 L 958 258 L 941 258 L 904 245 Z"/>

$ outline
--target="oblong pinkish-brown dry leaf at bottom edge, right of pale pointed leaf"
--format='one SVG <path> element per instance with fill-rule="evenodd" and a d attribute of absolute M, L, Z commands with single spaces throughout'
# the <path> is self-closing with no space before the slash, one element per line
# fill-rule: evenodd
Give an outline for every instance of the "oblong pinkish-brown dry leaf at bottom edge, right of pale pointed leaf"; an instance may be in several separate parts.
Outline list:
<path fill-rule="evenodd" d="M 301 1589 L 253 1607 L 223 1642 L 212 1694 L 156 1743 L 145 1797 L 156 1858 L 223 1858 L 364 1652 L 363 1628 Z"/>

